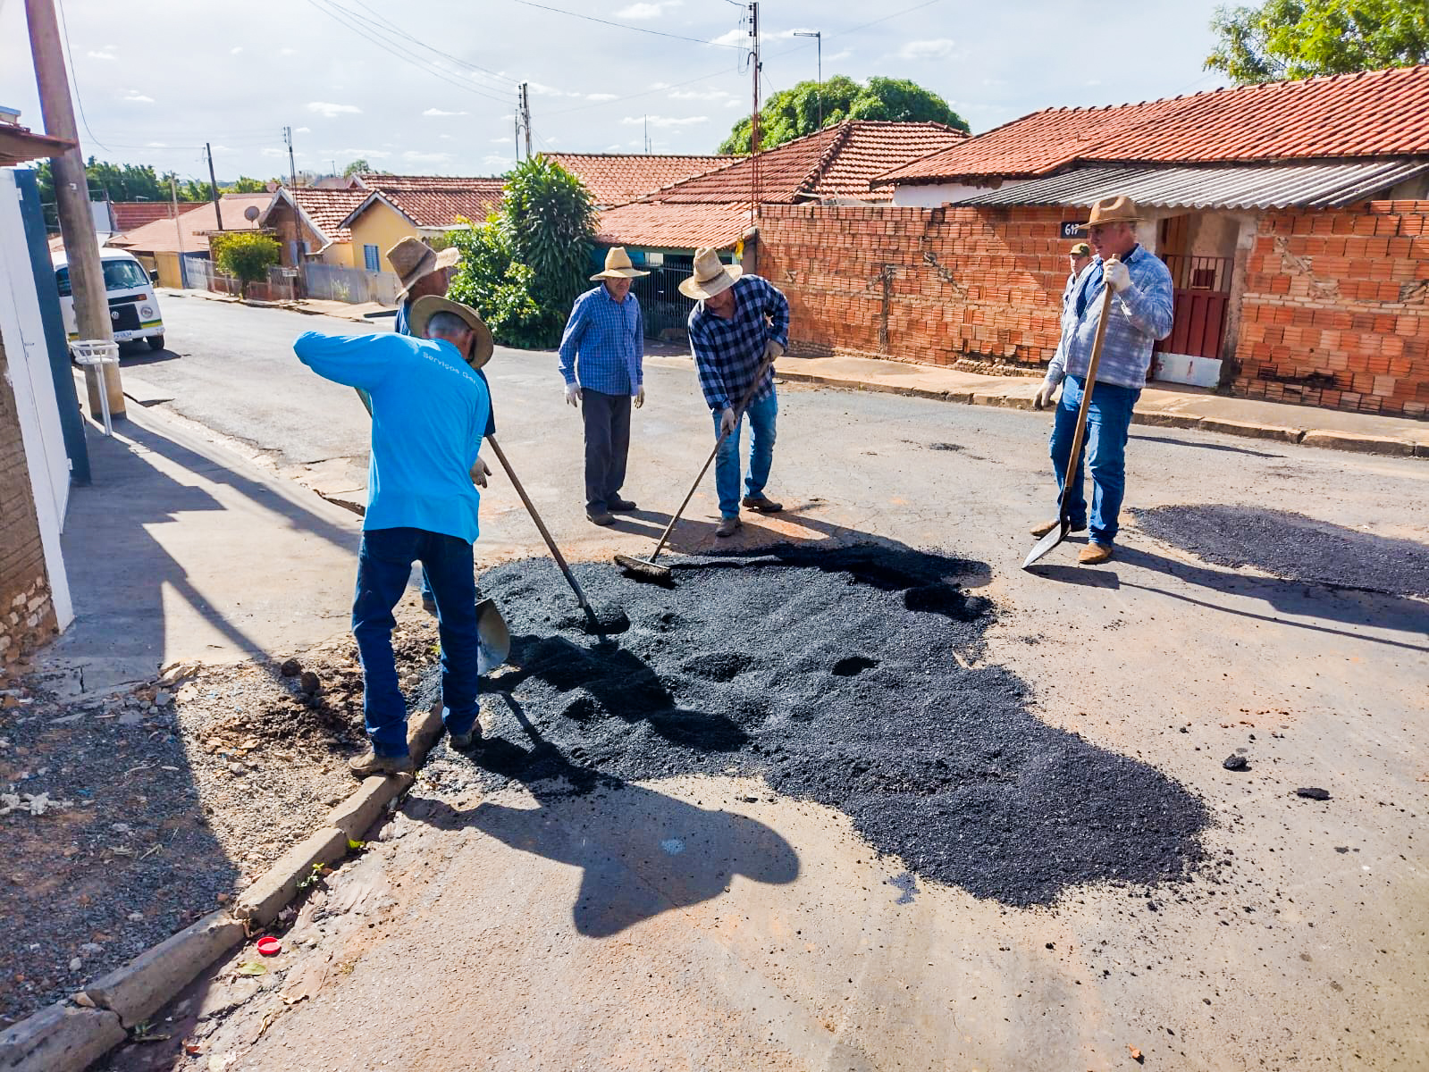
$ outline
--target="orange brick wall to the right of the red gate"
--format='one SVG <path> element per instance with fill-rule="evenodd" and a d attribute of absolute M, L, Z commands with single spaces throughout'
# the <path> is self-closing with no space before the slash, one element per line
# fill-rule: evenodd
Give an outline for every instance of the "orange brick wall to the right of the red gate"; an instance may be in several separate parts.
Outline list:
<path fill-rule="evenodd" d="M 1429 202 L 1266 213 L 1232 392 L 1429 416 Z"/>

